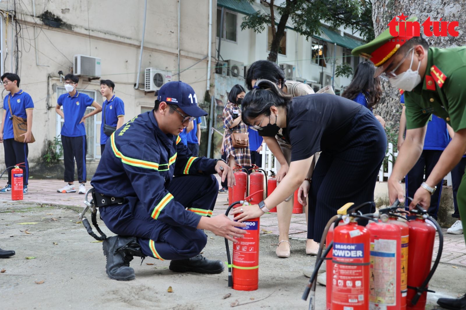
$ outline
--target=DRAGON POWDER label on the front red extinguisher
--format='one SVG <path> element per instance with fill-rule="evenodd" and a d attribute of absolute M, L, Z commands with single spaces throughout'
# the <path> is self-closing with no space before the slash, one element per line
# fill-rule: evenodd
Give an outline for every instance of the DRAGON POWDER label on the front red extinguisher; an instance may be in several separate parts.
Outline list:
<path fill-rule="evenodd" d="M 332 302 L 344 309 L 364 304 L 363 260 L 364 243 L 333 244 Z"/>

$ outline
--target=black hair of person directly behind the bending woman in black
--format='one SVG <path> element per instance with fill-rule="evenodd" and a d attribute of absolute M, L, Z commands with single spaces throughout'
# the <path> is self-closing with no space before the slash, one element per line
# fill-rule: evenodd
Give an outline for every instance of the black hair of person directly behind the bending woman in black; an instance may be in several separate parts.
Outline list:
<path fill-rule="evenodd" d="M 261 79 L 269 80 L 283 88 L 285 85 L 285 72 L 281 67 L 272 61 L 254 61 L 248 68 L 246 73 L 246 88 L 251 90 L 252 80 L 259 81 Z"/>

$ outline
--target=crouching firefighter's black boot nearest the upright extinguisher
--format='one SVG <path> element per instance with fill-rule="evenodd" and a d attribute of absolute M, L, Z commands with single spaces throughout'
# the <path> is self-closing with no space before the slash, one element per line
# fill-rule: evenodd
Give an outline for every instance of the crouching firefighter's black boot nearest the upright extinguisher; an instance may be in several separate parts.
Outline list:
<path fill-rule="evenodd" d="M 224 269 L 221 261 L 212 261 L 202 255 L 170 262 L 169 269 L 175 272 L 221 273 Z"/>

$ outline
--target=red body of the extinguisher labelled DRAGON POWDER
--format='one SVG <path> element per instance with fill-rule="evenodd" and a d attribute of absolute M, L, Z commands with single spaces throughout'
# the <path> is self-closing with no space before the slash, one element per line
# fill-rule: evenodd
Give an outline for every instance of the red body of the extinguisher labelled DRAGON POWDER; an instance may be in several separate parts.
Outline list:
<path fill-rule="evenodd" d="M 369 243 L 369 230 L 356 222 L 333 230 L 331 310 L 369 309 Z"/>

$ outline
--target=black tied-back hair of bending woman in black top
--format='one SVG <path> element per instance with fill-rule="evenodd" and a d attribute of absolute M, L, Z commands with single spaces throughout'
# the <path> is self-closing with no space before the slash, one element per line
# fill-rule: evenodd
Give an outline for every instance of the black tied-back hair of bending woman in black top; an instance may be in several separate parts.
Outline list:
<path fill-rule="evenodd" d="M 242 121 L 251 125 L 250 120 L 259 115 L 270 115 L 271 107 L 287 107 L 293 96 L 284 94 L 273 81 L 259 80 L 256 82 L 259 88 L 253 88 L 244 96 L 241 104 Z"/>

